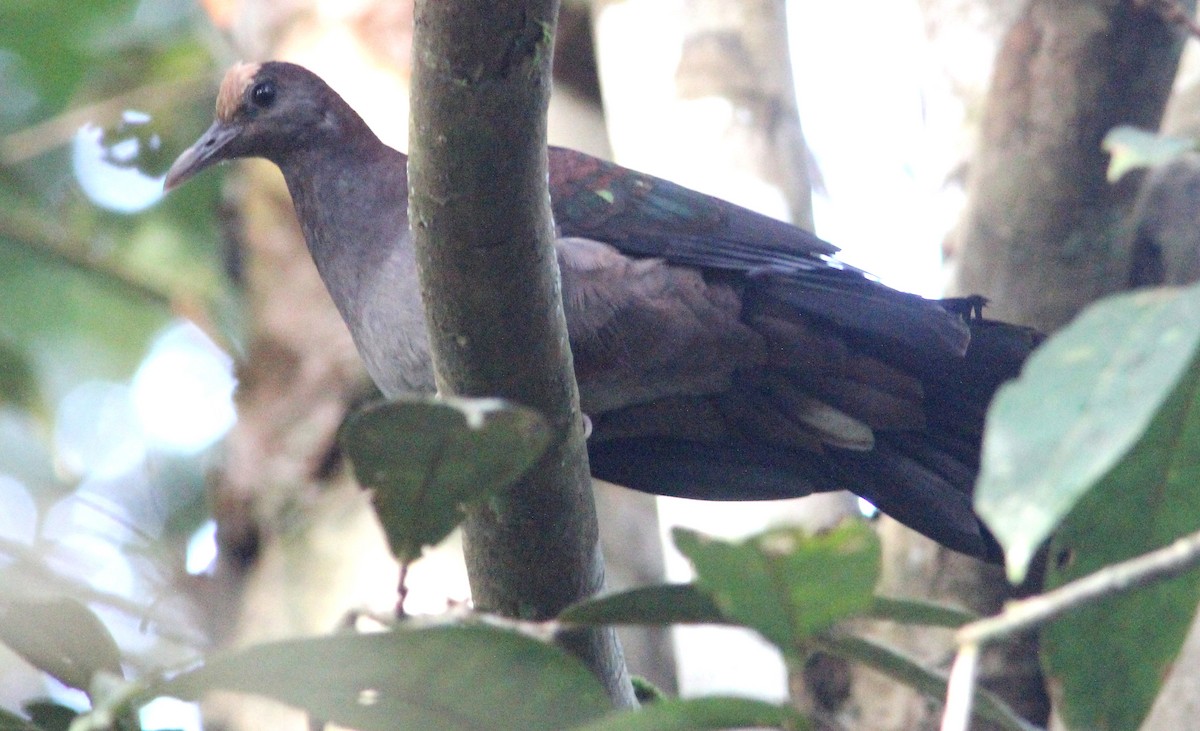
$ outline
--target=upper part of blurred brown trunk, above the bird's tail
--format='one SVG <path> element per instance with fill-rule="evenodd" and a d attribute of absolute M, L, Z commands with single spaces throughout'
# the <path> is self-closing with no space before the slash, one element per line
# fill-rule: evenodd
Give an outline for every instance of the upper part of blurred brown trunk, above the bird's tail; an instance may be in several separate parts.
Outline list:
<path fill-rule="evenodd" d="M 1195 4 L 1187 4 L 1194 10 Z M 1045 331 L 1124 289 L 1130 185 L 1104 178 L 1116 125 L 1157 128 L 1181 29 L 1128 0 L 1033 0 L 1000 52 L 961 227 L 958 293 Z"/>

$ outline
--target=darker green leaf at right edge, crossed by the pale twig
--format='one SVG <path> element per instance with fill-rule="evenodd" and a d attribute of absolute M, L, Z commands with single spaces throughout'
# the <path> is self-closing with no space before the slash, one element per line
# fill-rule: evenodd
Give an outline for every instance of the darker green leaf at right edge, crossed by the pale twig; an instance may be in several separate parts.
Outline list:
<path fill-rule="evenodd" d="M 1063 522 L 1048 587 L 1200 529 L 1200 369 L 1193 367 L 1146 436 Z M 1200 603 L 1200 571 L 1106 599 L 1042 633 L 1056 707 L 1073 729 L 1139 729 Z M 1086 637 L 1086 642 L 1080 639 Z"/>

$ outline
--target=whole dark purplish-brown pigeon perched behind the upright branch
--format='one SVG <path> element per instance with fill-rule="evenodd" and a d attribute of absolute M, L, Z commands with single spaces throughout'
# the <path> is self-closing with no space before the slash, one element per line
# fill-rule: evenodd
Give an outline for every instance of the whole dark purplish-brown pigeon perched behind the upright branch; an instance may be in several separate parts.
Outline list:
<path fill-rule="evenodd" d="M 238 64 L 172 164 L 283 173 L 317 269 L 384 396 L 434 393 L 407 156 L 320 77 Z M 983 298 L 892 289 L 802 228 L 547 148 L 563 307 L 595 478 L 761 501 L 850 490 L 955 551 L 1000 561 L 972 509 L 984 415 L 1039 336 Z"/>

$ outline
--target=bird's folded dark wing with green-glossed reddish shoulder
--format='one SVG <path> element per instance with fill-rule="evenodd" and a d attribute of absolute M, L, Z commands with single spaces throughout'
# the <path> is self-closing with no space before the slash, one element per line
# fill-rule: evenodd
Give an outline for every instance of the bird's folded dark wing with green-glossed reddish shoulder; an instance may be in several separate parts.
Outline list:
<path fill-rule="evenodd" d="M 917 350 L 966 349 L 962 318 L 839 262 L 835 246 L 804 229 L 575 150 L 551 148 L 548 164 L 563 236 L 737 272 L 772 299 Z"/>

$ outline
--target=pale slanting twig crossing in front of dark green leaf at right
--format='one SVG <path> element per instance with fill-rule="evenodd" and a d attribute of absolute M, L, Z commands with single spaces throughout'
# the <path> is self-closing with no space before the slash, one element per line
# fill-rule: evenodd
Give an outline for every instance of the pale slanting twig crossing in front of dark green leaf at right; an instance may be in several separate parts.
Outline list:
<path fill-rule="evenodd" d="M 955 641 L 959 647 L 984 645 L 1045 624 L 1086 604 L 1172 579 L 1196 565 L 1200 565 L 1200 532 L 1157 551 L 1105 567 L 1045 594 L 1013 601 L 995 617 L 964 625 L 955 633 Z"/>

